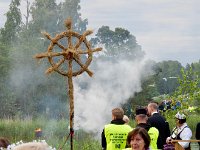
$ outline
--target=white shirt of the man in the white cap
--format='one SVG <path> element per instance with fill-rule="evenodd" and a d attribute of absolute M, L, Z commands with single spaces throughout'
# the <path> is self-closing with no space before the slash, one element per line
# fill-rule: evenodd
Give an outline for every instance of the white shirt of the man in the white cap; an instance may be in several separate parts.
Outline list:
<path fill-rule="evenodd" d="M 175 127 L 173 129 L 173 133 L 171 135 L 171 137 L 168 137 L 167 140 L 169 139 L 172 139 L 172 138 L 175 138 L 177 137 L 177 135 L 180 133 L 180 138 L 182 140 L 190 140 L 191 137 L 192 137 L 192 131 L 190 130 L 189 127 L 186 127 L 187 126 L 187 123 L 184 123 L 181 127 Z M 183 148 L 187 148 L 189 147 L 189 143 L 190 142 L 178 142 Z"/>

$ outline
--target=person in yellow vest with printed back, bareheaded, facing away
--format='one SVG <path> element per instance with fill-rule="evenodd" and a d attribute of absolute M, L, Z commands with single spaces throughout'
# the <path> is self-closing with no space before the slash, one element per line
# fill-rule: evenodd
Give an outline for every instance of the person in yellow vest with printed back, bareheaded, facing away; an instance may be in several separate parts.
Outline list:
<path fill-rule="evenodd" d="M 125 124 L 123 116 L 122 108 L 112 110 L 112 121 L 105 125 L 101 135 L 103 150 L 122 150 L 126 147 L 126 139 L 132 128 Z"/>

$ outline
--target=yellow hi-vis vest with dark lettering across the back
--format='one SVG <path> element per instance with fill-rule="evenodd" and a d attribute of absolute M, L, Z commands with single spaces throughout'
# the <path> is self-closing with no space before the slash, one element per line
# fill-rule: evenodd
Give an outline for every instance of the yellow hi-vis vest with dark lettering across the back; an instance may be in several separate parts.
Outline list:
<path fill-rule="evenodd" d="M 106 150 L 122 150 L 126 147 L 128 133 L 132 130 L 129 125 L 105 125 Z"/>

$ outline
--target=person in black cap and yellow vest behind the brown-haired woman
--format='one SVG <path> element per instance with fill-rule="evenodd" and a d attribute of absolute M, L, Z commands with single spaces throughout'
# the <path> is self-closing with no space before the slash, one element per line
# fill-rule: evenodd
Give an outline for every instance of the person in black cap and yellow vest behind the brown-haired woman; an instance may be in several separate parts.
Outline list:
<path fill-rule="evenodd" d="M 155 127 L 151 127 L 147 123 L 148 117 L 147 117 L 147 110 L 145 108 L 138 108 L 136 109 L 136 117 L 135 121 L 137 122 L 136 127 L 142 127 L 144 128 L 149 136 L 150 136 L 150 148 L 151 150 L 157 150 L 157 140 L 159 136 L 159 131 Z"/>

